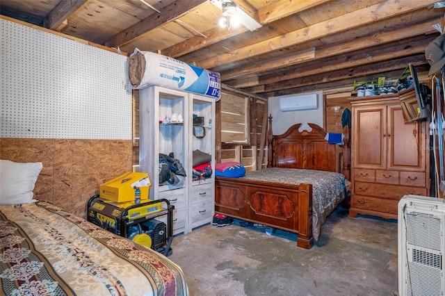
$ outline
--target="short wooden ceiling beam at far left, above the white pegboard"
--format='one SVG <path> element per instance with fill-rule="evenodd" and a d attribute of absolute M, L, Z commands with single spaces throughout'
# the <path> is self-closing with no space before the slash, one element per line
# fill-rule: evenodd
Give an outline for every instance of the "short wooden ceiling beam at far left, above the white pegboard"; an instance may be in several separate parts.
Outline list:
<path fill-rule="evenodd" d="M 42 26 L 54 31 L 60 31 L 64 27 L 64 22 L 76 10 L 81 8 L 88 0 L 60 1 L 58 5 L 43 19 Z"/>

